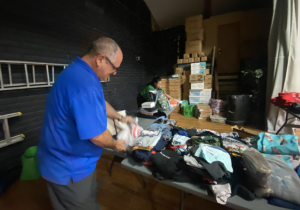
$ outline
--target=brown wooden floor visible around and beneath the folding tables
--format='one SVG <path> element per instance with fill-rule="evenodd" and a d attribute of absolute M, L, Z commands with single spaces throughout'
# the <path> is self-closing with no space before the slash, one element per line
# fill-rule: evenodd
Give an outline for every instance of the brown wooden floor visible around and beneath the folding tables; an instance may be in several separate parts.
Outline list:
<path fill-rule="evenodd" d="M 217 132 L 231 132 L 231 126 L 216 124 L 192 117 L 184 117 L 179 113 L 171 113 L 170 119 L 175 119 L 177 125 L 187 128 L 211 129 Z M 246 127 L 246 126 L 244 126 Z M 258 130 L 257 130 L 258 131 Z M 298 135 L 300 132 L 297 133 Z M 122 210 L 177 210 L 179 209 L 179 193 L 176 188 L 161 184 L 152 179 L 146 179 L 146 189 L 143 189 L 140 175 L 121 168 L 115 163 L 113 176 L 107 173 L 113 156 L 103 153 L 97 163 L 97 179 L 99 201 L 102 209 Z M 42 178 L 34 181 L 16 181 L 0 196 L 0 209 L 5 210 L 52 210 L 51 202 Z M 185 210 L 229 209 L 214 202 L 188 194 L 184 202 Z"/>

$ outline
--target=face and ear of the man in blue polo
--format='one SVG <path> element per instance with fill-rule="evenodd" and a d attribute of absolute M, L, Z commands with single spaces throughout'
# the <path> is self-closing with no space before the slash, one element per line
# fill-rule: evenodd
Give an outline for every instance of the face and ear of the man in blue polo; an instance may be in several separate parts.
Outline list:
<path fill-rule="evenodd" d="M 110 62 L 109 58 L 106 58 L 103 55 L 98 55 L 96 57 L 96 75 L 98 76 L 100 81 L 107 81 L 110 75 L 116 75 L 117 68 L 120 67 L 122 60 L 123 55 L 121 49 L 118 49 L 117 51 L 115 62 Z"/>

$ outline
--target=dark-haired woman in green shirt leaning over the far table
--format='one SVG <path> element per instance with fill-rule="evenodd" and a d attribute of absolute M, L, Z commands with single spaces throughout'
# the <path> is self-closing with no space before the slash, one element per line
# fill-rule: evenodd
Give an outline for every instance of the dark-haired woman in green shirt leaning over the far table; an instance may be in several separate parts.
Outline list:
<path fill-rule="evenodd" d="M 148 101 L 148 91 L 161 89 L 161 77 L 154 76 L 152 81 L 137 95 L 137 107 L 142 107 L 142 104 Z M 165 93 L 167 99 L 170 100 L 172 97 Z"/>

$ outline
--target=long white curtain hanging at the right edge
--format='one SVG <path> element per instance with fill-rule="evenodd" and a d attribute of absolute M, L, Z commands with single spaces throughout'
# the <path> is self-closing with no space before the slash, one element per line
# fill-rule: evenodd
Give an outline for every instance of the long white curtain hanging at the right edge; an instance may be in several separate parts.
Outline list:
<path fill-rule="evenodd" d="M 300 35 L 298 0 L 273 0 L 268 40 L 267 126 L 276 132 L 285 122 L 285 111 L 269 103 L 280 92 L 300 92 Z M 289 123 L 295 122 L 294 119 Z M 280 133 L 294 134 L 292 128 Z"/>

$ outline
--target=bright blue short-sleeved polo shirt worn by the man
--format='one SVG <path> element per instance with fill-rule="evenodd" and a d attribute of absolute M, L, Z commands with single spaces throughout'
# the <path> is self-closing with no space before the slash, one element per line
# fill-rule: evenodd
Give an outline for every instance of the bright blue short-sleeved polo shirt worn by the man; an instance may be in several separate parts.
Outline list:
<path fill-rule="evenodd" d="M 66 185 L 96 168 L 102 147 L 89 139 L 107 129 L 101 82 L 81 58 L 55 80 L 45 109 L 38 145 L 38 166 L 44 179 Z"/>

